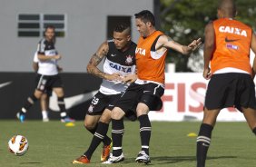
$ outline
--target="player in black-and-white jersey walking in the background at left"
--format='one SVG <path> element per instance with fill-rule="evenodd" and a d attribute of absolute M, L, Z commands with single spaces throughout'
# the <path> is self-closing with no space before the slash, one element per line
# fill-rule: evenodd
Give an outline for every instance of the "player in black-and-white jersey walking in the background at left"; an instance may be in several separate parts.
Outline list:
<path fill-rule="evenodd" d="M 36 76 L 36 88 L 34 93 L 28 97 L 21 111 L 16 114 L 17 118 L 23 123 L 25 121 L 25 113 L 28 109 L 41 98 L 47 89 L 53 89 L 58 97 L 58 106 L 60 108 L 61 121 L 63 123 L 74 122 L 67 115 L 64 104 L 64 89 L 60 75 L 58 74 L 59 66 L 57 61 L 61 59 L 61 55 L 55 49 L 55 28 L 53 25 L 47 25 L 44 31 L 44 39 L 40 40 L 37 47 L 38 71 Z"/>

